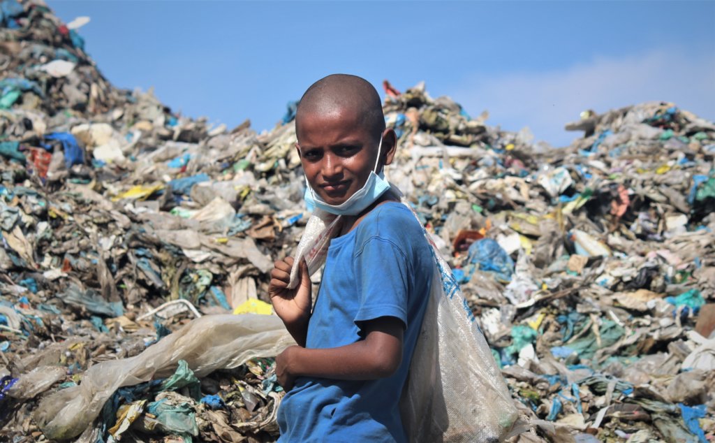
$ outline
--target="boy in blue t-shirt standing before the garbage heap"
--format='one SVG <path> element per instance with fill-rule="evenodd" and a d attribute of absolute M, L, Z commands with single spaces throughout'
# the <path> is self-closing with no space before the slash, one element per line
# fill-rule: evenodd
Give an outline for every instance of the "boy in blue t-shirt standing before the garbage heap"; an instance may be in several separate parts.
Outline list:
<path fill-rule="evenodd" d="M 276 358 L 287 391 L 280 442 L 405 442 L 400 394 L 434 263 L 422 226 L 382 177 L 395 132 L 375 88 L 345 74 L 307 89 L 295 126 L 306 200 L 342 215 L 342 227 L 312 312 L 305 262 L 293 290 L 293 258 L 271 273 L 271 301 L 298 344 Z"/>

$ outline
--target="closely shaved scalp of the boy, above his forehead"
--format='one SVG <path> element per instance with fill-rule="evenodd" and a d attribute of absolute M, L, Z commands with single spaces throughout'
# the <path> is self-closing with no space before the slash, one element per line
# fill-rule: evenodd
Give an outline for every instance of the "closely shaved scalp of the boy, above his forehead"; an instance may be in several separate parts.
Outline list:
<path fill-rule="evenodd" d="M 340 115 L 346 110 L 358 115 L 358 123 L 375 141 L 380 139 L 385 130 L 380 95 L 370 82 L 349 74 L 329 75 L 305 91 L 295 113 L 296 130 L 300 132 L 300 120 L 305 115 Z M 300 140 L 300 133 L 297 136 Z"/>

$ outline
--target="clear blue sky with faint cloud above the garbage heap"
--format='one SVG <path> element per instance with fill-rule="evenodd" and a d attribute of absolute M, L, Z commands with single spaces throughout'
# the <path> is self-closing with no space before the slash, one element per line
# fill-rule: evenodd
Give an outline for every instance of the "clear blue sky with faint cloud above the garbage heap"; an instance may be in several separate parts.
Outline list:
<path fill-rule="evenodd" d="M 425 81 L 489 125 L 568 145 L 583 109 L 675 102 L 715 120 L 715 1 L 48 1 L 118 87 L 272 128 L 327 74 Z"/>

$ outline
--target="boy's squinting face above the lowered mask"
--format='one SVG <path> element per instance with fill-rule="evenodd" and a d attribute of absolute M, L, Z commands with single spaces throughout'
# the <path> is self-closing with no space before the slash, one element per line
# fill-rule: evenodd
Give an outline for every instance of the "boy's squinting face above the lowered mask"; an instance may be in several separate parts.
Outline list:
<path fill-rule="evenodd" d="M 297 123 L 296 135 L 305 177 L 325 203 L 340 205 L 363 188 L 375 167 L 380 139 L 375 140 L 357 112 L 306 113 Z M 382 151 L 385 158 L 385 142 Z M 392 156 L 388 157 L 391 161 Z M 378 171 L 381 167 L 383 162 Z"/>

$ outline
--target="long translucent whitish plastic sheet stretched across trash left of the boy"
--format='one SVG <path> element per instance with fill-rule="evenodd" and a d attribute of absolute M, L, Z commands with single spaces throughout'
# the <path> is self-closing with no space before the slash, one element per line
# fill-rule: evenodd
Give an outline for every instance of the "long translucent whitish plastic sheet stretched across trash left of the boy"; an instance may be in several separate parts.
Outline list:
<path fill-rule="evenodd" d="M 196 376 L 232 369 L 257 357 L 275 356 L 295 344 L 277 316 L 247 314 L 197 318 L 129 359 L 102 361 L 87 369 L 82 384 L 44 398 L 35 419 L 48 439 L 82 434 L 122 386 L 171 376 L 185 360 Z"/>

